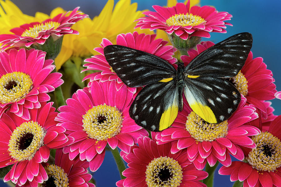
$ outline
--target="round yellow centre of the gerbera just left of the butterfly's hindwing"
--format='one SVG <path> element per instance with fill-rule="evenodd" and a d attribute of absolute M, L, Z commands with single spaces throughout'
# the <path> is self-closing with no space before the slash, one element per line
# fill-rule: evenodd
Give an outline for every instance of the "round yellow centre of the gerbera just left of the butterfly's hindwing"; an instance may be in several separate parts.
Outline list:
<path fill-rule="evenodd" d="M 90 138 L 106 140 L 116 136 L 122 127 L 122 113 L 116 107 L 98 105 L 83 115 L 83 130 Z"/>

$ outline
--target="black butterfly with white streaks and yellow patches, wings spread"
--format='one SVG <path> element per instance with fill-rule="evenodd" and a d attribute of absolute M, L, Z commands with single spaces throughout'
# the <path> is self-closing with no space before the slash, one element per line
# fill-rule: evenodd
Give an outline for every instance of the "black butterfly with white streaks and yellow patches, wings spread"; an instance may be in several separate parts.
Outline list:
<path fill-rule="evenodd" d="M 126 46 L 110 45 L 104 55 L 129 87 L 145 87 L 137 94 L 129 114 L 150 131 L 164 130 L 183 108 L 183 94 L 190 108 L 208 123 L 227 120 L 241 96 L 225 78 L 238 74 L 252 47 L 252 35 L 244 32 L 221 41 L 177 70 L 166 60 Z"/>

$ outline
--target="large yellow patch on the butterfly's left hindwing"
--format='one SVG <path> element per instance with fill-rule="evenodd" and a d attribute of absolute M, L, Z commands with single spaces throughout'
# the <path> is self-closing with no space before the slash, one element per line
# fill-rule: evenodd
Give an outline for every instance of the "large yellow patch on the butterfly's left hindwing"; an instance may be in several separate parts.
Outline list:
<path fill-rule="evenodd" d="M 162 131 L 171 126 L 178 115 L 179 107 L 174 103 L 162 113 L 159 123 L 159 131 Z"/>

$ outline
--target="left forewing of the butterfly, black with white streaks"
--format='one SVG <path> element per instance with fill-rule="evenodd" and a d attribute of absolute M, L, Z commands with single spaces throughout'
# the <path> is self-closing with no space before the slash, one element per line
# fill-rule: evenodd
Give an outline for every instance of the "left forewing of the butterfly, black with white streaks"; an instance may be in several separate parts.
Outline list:
<path fill-rule="evenodd" d="M 107 62 L 129 87 L 140 87 L 175 76 L 176 70 L 166 60 L 125 46 L 104 48 Z"/>

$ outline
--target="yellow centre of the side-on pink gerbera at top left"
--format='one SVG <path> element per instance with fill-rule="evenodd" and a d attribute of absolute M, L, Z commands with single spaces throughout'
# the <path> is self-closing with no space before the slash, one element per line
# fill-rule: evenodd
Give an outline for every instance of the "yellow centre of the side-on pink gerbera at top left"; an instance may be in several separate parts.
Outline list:
<path fill-rule="evenodd" d="M 22 36 L 36 38 L 38 37 L 39 32 L 49 30 L 51 28 L 56 29 L 58 26 L 60 26 L 60 23 L 52 21 L 36 24 L 33 27 L 29 27 L 29 30 L 25 30 L 22 33 Z"/>

